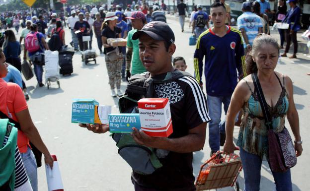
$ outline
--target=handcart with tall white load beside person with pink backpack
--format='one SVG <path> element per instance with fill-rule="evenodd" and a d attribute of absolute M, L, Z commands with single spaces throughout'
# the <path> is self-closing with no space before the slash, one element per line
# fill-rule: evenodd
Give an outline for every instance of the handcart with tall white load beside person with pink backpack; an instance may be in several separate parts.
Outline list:
<path fill-rule="evenodd" d="M 58 51 L 45 51 L 45 81 L 47 89 L 50 89 L 51 82 L 56 82 L 60 88 L 59 82 L 59 64 Z"/>

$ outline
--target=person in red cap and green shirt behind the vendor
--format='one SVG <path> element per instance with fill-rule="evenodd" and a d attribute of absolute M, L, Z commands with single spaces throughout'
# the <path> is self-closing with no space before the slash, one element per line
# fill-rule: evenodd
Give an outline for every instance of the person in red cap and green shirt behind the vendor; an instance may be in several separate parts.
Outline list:
<path fill-rule="evenodd" d="M 128 81 L 128 78 L 130 78 L 131 75 L 146 71 L 146 68 L 143 66 L 139 58 L 139 41 L 133 40 L 132 36 L 136 31 L 141 30 L 147 21 L 145 14 L 139 10 L 133 12 L 131 17 L 126 17 L 126 19 L 131 19 L 131 23 L 134 28 L 129 31 L 127 38 L 126 80 Z"/>

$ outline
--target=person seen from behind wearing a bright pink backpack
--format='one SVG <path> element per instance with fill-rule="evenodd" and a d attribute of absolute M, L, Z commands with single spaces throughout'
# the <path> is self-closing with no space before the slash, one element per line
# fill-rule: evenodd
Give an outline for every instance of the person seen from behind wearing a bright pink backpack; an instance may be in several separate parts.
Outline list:
<path fill-rule="evenodd" d="M 26 45 L 25 46 L 26 46 L 26 48 L 28 48 L 28 56 L 29 56 L 31 62 L 33 63 L 33 65 L 34 65 L 34 73 L 35 73 L 35 75 L 37 77 L 37 81 L 38 81 L 39 87 L 42 87 L 42 86 L 44 86 L 44 84 L 42 83 L 42 81 L 43 81 L 43 79 L 42 79 L 42 76 L 43 76 L 43 62 L 44 62 L 44 59 L 42 59 L 42 58 L 44 58 L 42 56 L 42 54 L 44 54 L 44 49 L 45 50 L 49 50 L 49 47 L 48 47 L 48 44 L 45 41 L 44 35 L 42 33 L 38 32 L 38 26 L 36 24 L 32 24 L 30 26 L 30 30 L 31 31 L 26 36 L 25 41 L 29 41 L 30 43 L 34 42 L 35 41 L 35 37 L 37 37 L 37 39 L 39 41 L 39 47 L 38 47 L 38 49 L 36 51 L 31 51 L 29 49 L 29 47 L 27 47 Z M 35 43 L 31 43 L 31 44 L 35 44 Z"/>

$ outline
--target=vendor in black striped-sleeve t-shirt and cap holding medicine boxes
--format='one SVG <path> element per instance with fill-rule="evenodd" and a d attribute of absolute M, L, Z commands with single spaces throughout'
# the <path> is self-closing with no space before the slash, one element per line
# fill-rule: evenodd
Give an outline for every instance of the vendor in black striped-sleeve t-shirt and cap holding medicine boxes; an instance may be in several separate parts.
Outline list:
<path fill-rule="evenodd" d="M 174 34 L 166 23 L 152 21 L 135 32 L 132 39 L 139 39 L 140 59 L 150 77 L 160 80 L 175 70 L 171 64 L 176 49 Z M 133 172 L 135 191 L 195 191 L 192 152 L 201 150 L 205 143 L 210 121 L 206 97 L 190 76 L 156 83 L 154 90 L 154 98 L 169 99 L 173 133 L 168 138 L 151 137 L 133 128 L 132 136 L 138 144 L 160 150 L 163 165 L 151 175 Z M 108 125 L 80 126 L 96 133 L 109 130 Z"/>

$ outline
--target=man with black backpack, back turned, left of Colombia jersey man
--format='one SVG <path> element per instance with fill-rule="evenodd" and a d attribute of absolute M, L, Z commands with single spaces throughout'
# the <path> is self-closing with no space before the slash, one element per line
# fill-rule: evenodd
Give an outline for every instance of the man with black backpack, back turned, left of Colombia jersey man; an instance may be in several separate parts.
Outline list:
<path fill-rule="evenodd" d="M 199 37 L 207 28 L 209 28 L 209 15 L 202 11 L 202 5 L 197 4 L 198 11 L 194 15 L 192 33 L 195 33 L 196 38 Z M 206 28 L 207 27 L 207 28 Z"/>

